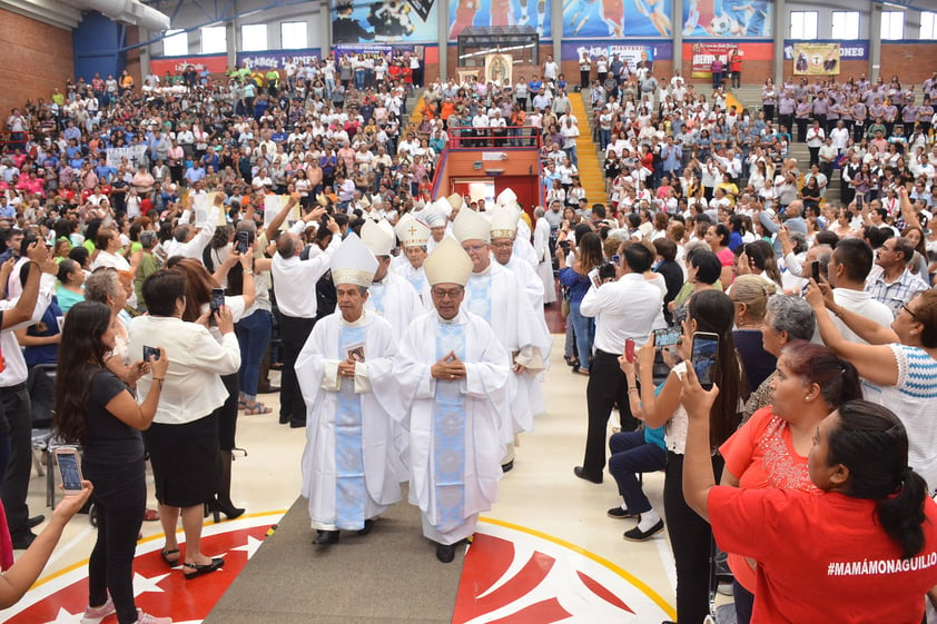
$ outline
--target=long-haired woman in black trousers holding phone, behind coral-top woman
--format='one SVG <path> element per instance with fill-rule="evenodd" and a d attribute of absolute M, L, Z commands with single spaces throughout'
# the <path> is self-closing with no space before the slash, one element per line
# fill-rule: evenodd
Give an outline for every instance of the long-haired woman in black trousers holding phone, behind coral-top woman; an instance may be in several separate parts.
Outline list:
<path fill-rule="evenodd" d="M 712 531 L 683 499 L 683 453 L 687 444 L 687 406 L 680 397 L 681 379 L 690 368 L 691 345 L 694 335 L 704 334 L 714 338 L 716 353 L 711 382 L 724 388 L 710 412 L 710 456 L 717 475 L 722 473 L 722 458 L 716 449 L 726 442 L 739 424 L 739 400 L 743 376 L 736 345 L 732 338 L 734 320 L 732 300 L 718 290 L 701 290 L 687 304 L 687 320 L 683 321 L 683 337 L 680 350 L 684 361 L 674 366 L 660 393 L 654 394 L 653 364 L 655 347 L 653 339 L 638 351 L 638 374 L 644 424 L 648 427 L 664 428 L 667 446 L 667 472 L 663 485 L 664 518 L 670 527 L 670 544 L 677 564 L 677 616 L 679 622 L 702 622 L 709 614 L 710 549 Z M 700 339 L 697 336 L 697 339 Z M 700 361 L 693 361 L 698 367 Z M 640 535 L 635 535 L 640 538 Z"/>

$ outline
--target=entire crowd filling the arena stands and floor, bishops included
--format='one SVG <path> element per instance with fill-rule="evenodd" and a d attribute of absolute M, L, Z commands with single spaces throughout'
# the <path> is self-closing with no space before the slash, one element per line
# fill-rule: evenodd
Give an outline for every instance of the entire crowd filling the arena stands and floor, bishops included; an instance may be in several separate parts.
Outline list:
<path fill-rule="evenodd" d="M 259 395 L 280 366 L 278 420 L 306 427 L 314 543 L 368 534 L 408 482 L 424 535 L 451 562 L 513 467 L 516 436 L 545 412 L 544 306 L 559 283 L 564 357 L 589 377 L 574 475 L 602 483 L 608 463 L 622 502 L 606 514 L 637 521 L 627 539 L 668 528 L 680 622 L 709 613 L 713 535 L 739 622 L 811 617 L 792 606 L 805 593 L 834 613 L 859 590 L 889 621 L 920 622 L 937 585 L 926 524 L 937 512 L 937 75 L 920 106 L 897 79 L 860 78 L 769 83 L 752 113 L 726 110 L 721 88 L 707 100 L 679 72 L 662 86 L 651 63 L 619 59 L 571 96 L 548 60 L 542 79 L 437 80 L 410 122 L 412 60 L 331 56 L 226 82 L 148 76 L 140 90 L 96 77 L 12 112 L 0 159 L 12 546 L 48 557 L 40 537 L 80 506 L 69 499 L 32 533 L 27 380 L 57 364 L 55 425 L 83 449 L 98 526 L 86 620 L 168 622 L 134 603 L 140 523 L 159 519 L 162 559 L 187 578 L 224 565 L 200 549 L 203 516 L 244 513 L 231 501 L 237 417 L 270 410 Z M 592 106 L 605 197 L 580 184 L 589 122 L 570 97 Z M 793 121 L 809 171 L 789 155 Z M 431 197 L 451 138 L 532 137 L 544 206 L 510 190 Z M 825 198 L 836 168 L 838 202 Z M 689 365 L 700 333 L 719 345 L 713 389 Z M 634 476 L 659 469 L 660 511 Z M 775 524 L 772 509 L 831 528 L 816 537 L 810 524 Z M 849 523 L 855 533 L 837 531 Z M 752 541 L 769 524 L 771 539 Z M 805 547 L 769 548 L 785 531 Z M 866 556 L 887 595 L 852 572 Z M 38 574 L 39 558 L 16 578 Z"/>

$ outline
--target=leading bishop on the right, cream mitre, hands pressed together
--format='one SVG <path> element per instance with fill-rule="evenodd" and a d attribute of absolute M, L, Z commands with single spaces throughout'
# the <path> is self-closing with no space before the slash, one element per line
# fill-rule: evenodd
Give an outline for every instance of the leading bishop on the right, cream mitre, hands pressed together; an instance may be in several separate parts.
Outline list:
<path fill-rule="evenodd" d="M 434 309 L 407 329 L 394 374 L 410 407 L 410 499 L 448 563 L 497 498 L 512 373 L 489 324 L 462 307 L 472 261 L 458 244 L 444 239 L 425 269 Z"/>

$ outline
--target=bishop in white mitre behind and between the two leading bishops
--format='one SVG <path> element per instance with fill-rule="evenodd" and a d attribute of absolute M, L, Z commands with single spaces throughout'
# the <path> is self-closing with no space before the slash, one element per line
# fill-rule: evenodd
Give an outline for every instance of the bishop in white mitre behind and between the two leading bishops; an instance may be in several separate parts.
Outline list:
<path fill-rule="evenodd" d="M 402 336 L 414 318 L 425 311 L 420 295 L 407 280 L 391 269 L 394 229 L 387 221 L 365 221 L 362 242 L 377 258 L 377 269 L 368 288 L 364 309 L 383 316 L 394 333 Z"/>

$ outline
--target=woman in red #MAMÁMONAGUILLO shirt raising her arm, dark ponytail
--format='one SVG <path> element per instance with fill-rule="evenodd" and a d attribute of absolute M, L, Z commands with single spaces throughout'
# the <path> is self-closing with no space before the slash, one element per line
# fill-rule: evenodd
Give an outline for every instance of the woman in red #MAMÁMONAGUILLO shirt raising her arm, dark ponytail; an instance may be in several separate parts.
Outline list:
<path fill-rule="evenodd" d="M 692 370 L 683 495 L 726 551 L 758 562 L 752 622 L 920 624 L 937 585 L 937 505 L 908 467 L 908 435 L 887 408 L 842 404 L 816 428 L 808 459 L 820 493 L 717 486 L 710 409 Z"/>

